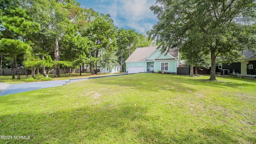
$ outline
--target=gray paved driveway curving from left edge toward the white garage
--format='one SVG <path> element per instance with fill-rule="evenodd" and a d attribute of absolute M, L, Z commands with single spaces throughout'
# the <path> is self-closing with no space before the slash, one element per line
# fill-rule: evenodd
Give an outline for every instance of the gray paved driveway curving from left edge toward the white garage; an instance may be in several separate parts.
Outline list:
<path fill-rule="evenodd" d="M 112 77 L 112 76 L 121 76 L 126 74 L 116 74 L 111 76 L 95 76 L 95 77 L 87 77 L 87 78 L 72 78 L 70 79 L 71 82 L 78 82 L 81 80 L 88 80 L 93 78 L 104 78 L 104 77 Z M 65 81 L 68 80 L 52 80 L 52 81 L 46 81 L 46 82 L 28 82 L 28 83 L 22 83 L 22 84 L 6 84 L 6 83 L 0 83 L 0 96 L 4 96 L 7 94 L 16 94 L 20 92 L 28 92 L 31 90 L 39 90 L 42 88 L 51 88 L 55 86 L 62 86 L 62 83 L 66 83 Z"/>

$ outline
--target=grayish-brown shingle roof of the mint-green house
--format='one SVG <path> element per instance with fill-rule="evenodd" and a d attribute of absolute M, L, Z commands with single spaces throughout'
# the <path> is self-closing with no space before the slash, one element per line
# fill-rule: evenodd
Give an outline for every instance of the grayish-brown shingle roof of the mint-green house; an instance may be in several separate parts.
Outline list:
<path fill-rule="evenodd" d="M 142 62 L 148 58 L 158 46 L 150 46 L 144 48 L 136 48 L 134 52 L 129 56 L 129 58 L 125 62 Z M 178 48 L 172 48 L 168 52 L 174 58 L 178 59 Z"/>

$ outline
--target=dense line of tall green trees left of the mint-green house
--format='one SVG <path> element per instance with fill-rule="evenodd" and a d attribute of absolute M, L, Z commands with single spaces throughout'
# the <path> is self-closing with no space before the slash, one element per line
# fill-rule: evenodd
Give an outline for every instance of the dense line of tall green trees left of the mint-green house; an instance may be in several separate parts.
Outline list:
<path fill-rule="evenodd" d="M 111 68 L 151 40 L 134 30 L 118 29 L 109 14 L 82 8 L 75 0 L 0 0 L 1 68 Z M 81 72 L 81 70 L 80 70 Z"/>

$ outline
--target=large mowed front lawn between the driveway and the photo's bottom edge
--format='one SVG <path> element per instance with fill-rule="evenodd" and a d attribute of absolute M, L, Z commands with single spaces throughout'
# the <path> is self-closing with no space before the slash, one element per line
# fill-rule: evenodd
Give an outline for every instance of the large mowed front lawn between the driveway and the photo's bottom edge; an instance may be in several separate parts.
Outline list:
<path fill-rule="evenodd" d="M 0 97 L 0 143 L 255 144 L 256 81 L 131 74 Z"/>

